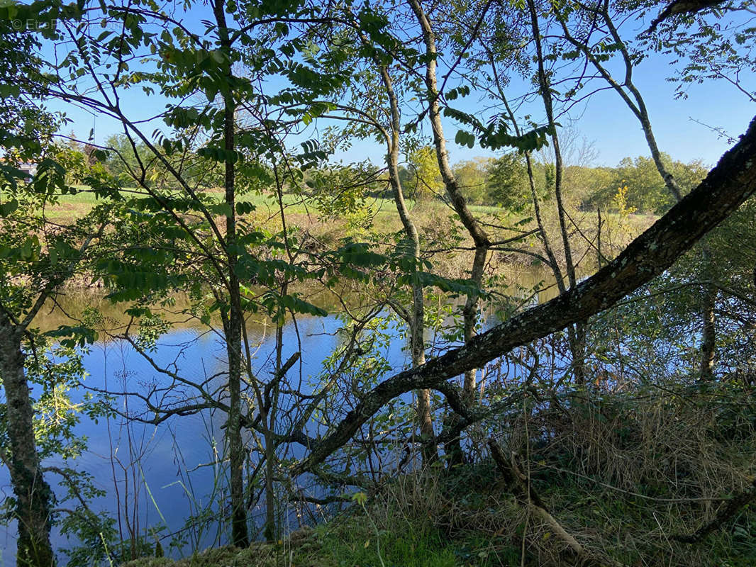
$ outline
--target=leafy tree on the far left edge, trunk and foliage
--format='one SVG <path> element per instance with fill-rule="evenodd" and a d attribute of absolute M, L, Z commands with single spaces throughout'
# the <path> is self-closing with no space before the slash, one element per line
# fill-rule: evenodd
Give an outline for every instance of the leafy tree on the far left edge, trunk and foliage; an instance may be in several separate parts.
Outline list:
<path fill-rule="evenodd" d="M 45 391 L 60 386 L 61 376 L 43 373 L 39 359 L 26 359 L 43 356 L 44 340 L 35 330 L 36 315 L 87 259 L 107 223 L 107 214 L 100 207 L 68 227 L 46 221 L 45 207 L 61 194 L 75 191 L 66 180 L 71 171 L 62 165 L 72 150 L 51 142 L 58 122 L 35 104 L 33 96 L 40 94 L 39 88 L 23 92 L 18 87 L 22 78 L 39 78 L 41 61 L 33 55 L 39 44 L 31 34 L 10 29 L 9 8 L 0 9 L 6 12 L 0 24 L 4 28 L 0 64 L 6 71 L 0 82 L 0 146 L 5 150 L 0 178 L 0 378 L 5 393 L 2 425 L 8 440 L 2 449 L 15 497 L 17 565 L 48 567 L 55 562 L 50 544 L 54 494 L 40 461 L 37 415 L 27 370 L 56 380 L 47 383 Z M 37 163 L 30 182 L 18 169 L 23 163 Z M 81 166 L 79 175 L 85 173 L 83 160 L 73 165 Z M 58 334 L 69 333 L 64 329 Z M 85 329 L 79 334 L 91 338 Z M 42 444 L 52 443 L 54 435 Z"/>

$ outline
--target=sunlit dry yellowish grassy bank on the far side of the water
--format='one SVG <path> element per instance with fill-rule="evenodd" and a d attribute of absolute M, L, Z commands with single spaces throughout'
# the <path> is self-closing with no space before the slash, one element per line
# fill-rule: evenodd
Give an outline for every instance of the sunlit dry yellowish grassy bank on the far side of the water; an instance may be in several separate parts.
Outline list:
<path fill-rule="evenodd" d="M 218 192 L 218 199 L 221 196 Z M 283 203 L 279 203 L 273 194 L 249 193 L 239 200 L 255 206 L 245 220 L 270 231 L 280 231 L 283 227 L 283 205 L 287 227 L 301 229 L 302 234 L 312 241 L 307 245 L 310 249 L 332 249 L 339 246 L 344 237 L 390 244 L 392 234 L 403 230 L 391 199 L 369 198 L 363 208 L 349 213 L 353 216 L 324 215 L 312 206 L 311 200 L 293 194 L 284 195 Z M 77 194 L 60 197 L 58 203 L 48 207 L 45 214 L 53 222 L 70 224 L 85 215 L 96 203 L 98 200 L 88 187 L 79 187 Z M 420 203 L 407 200 L 407 205 L 423 239 L 423 249 L 429 251 L 429 259 L 438 273 L 446 277 L 467 277 L 474 245 L 451 206 L 438 199 Z M 554 205 L 550 201 L 541 203 L 541 215 L 551 249 L 557 261 L 564 262 L 562 229 Z M 517 234 L 538 228 L 534 219 L 528 216 L 530 213 L 512 213 L 498 206 L 471 205 L 469 208 L 485 226 L 492 241 L 507 243 L 505 246 L 494 246 L 490 256 L 491 268 L 501 268 L 503 265 L 530 267 L 538 264 L 533 253 L 546 256 L 541 239 L 534 234 L 522 242 L 510 242 Z M 604 259 L 612 258 L 654 221 L 653 215 L 623 216 L 603 212 L 599 218 L 596 212 L 569 209 L 569 224 L 565 229 L 572 240 L 572 258 L 579 263 L 578 268 L 582 267 L 578 271 L 588 275 L 598 265 L 597 244 L 600 243 L 600 254 Z M 543 264 L 541 267 L 544 267 Z"/>

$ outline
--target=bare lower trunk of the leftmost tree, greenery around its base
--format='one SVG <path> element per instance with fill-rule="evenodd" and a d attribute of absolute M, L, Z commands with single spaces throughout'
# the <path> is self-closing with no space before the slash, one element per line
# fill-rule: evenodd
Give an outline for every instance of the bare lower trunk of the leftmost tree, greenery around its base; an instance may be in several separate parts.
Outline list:
<path fill-rule="evenodd" d="M 51 567 L 55 564 L 50 544 L 52 491 L 42 477 L 23 360 L 21 331 L 7 319 L 0 321 L 0 378 L 5 389 L 5 426 L 11 442 L 11 484 L 18 522 L 16 565 Z"/>

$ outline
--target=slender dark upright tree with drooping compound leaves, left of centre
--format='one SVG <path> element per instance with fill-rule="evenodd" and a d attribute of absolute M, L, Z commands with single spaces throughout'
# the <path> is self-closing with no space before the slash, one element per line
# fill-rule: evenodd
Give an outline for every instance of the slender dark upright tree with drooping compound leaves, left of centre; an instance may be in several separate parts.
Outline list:
<path fill-rule="evenodd" d="M 205 35 L 197 35 L 150 2 L 140 4 L 139 8 L 134 5 L 101 7 L 85 4 L 61 11 L 57 5 L 49 3 L 37 5 L 35 9 L 36 17 L 57 20 L 57 27 L 46 29 L 45 34 L 46 39 L 58 42 L 65 52 L 65 65 L 49 68 L 44 83 L 33 82 L 36 77 L 32 76 L 24 78 L 19 83 L 20 88 L 27 93 L 37 89 L 39 95 L 58 101 L 85 104 L 93 112 L 116 116 L 122 124 L 123 137 L 114 141 L 114 147 L 103 148 L 116 156 L 111 160 L 120 164 L 120 178 L 105 178 L 96 187 L 98 191 L 119 199 L 124 206 L 121 226 L 113 235 L 118 252 L 98 266 L 99 273 L 111 287 L 111 297 L 140 300 L 141 305 L 130 312 L 135 318 L 150 318 L 149 305 L 160 302 L 161 291 L 191 289 L 196 292 L 196 297 L 204 298 L 201 285 L 210 286 L 212 310 L 220 315 L 225 338 L 228 404 L 212 398 L 199 386 L 203 399 L 200 407 L 216 407 L 228 414 L 225 432 L 230 461 L 231 541 L 243 547 L 248 544 L 249 535 L 242 428 L 256 427 L 268 442 L 266 497 L 272 502 L 275 467 L 272 428 L 275 418 L 271 416 L 275 409 L 271 400 L 275 399 L 275 385 L 280 383 L 280 373 L 283 372 L 279 348 L 277 377 L 270 383 L 262 381 L 259 386 L 256 383 L 246 342 L 245 311 L 263 308 L 279 326 L 287 311 L 305 310 L 316 314 L 322 311 L 287 293 L 289 280 L 311 276 L 304 268 L 293 265 L 294 252 L 285 225 L 281 234 L 283 242 L 271 238 L 274 241 L 271 247 L 285 250 L 285 260 L 276 257 L 260 260 L 253 254 L 251 248 L 265 237 L 255 227 L 241 221 L 252 207 L 240 202 L 238 197 L 245 190 L 275 181 L 280 198 L 283 191 L 280 175 L 293 178 L 295 182 L 301 181 L 301 170 L 291 168 L 292 160 L 299 160 L 299 166 L 305 169 L 320 159 L 321 152 L 317 147 L 305 146 L 302 153 L 294 156 L 287 153 L 278 139 L 281 122 L 271 119 L 265 107 L 259 106 L 265 97 L 254 88 L 256 78 L 267 73 L 280 73 L 294 85 L 301 85 L 304 81 L 310 92 L 317 95 L 338 85 L 333 76 L 323 76 L 321 82 L 314 82 L 311 74 L 302 76 L 303 67 L 283 64 L 280 59 L 272 68 L 268 66 L 271 57 L 290 57 L 286 54 L 291 48 L 297 52 L 305 50 L 298 38 L 287 39 L 286 21 L 290 13 L 307 20 L 313 11 L 305 5 L 298 5 L 290 7 L 290 12 L 279 14 L 272 10 L 249 23 L 239 23 L 245 19 L 246 5 L 215 2 L 212 5 L 212 26 Z M 95 35 L 89 26 L 79 26 L 82 17 L 95 14 L 121 26 L 126 30 L 125 35 L 118 36 L 110 31 Z M 249 35 L 256 26 L 265 28 L 265 34 Z M 74 41 L 67 42 L 67 39 Z M 132 57 L 143 55 L 150 58 L 155 73 L 129 68 Z M 39 65 L 44 67 L 42 61 Z M 243 66 L 244 75 L 237 73 L 237 67 L 234 67 L 239 65 Z M 73 68 L 73 76 L 61 73 L 63 67 Z M 95 91 L 82 94 L 79 90 L 82 76 L 98 85 Z M 154 135 L 147 134 L 143 129 L 144 122 L 120 106 L 122 91 L 132 85 L 139 85 L 147 94 L 160 91 L 171 101 L 159 116 L 163 129 Z M 297 88 L 292 91 L 299 92 Z M 196 104 L 184 104 L 192 97 L 198 100 Z M 307 99 L 298 100 L 302 106 L 307 104 Z M 248 125 L 240 125 L 237 119 L 240 113 L 249 119 Z M 187 151 L 199 156 L 197 161 L 205 169 L 222 171 L 220 200 L 206 194 L 203 179 L 193 177 L 184 168 Z M 279 177 L 271 179 L 269 170 L 259 165 L 259 156 L 266 156 L 268 163 L 282 158 L 279 168 L 274 169 L 274 175 Z M 161 178 L 167 178 L 168 182 Z M 124 187 L 125 182 L 133 188 Z M 125 240 L 127 237 L 135 240 Z M 148 243 L 152 247 L 147 246 Z M 196 271 L 175 271 L 177 265 L 185 267 L 192 263 Z M 257 302 L 247 287 L 252 285 L 253 278 L 268 282 L 271 288 Z M 246 364 L 243 364 L 245 356 Z M 252 423 L 246 420 L 243 423 L 243 374 L 256 390 L 262 421 L 252 420 Z M 175 408 L 162 409 L 166 415 L 181 412 Z M 198 411 L 196 404 L 194 411 Z M 162 419 L 165 417 L 161 416 Z M 266 534 L 274 538 L 276 528 L 272 506 L 268 513 Z"/>

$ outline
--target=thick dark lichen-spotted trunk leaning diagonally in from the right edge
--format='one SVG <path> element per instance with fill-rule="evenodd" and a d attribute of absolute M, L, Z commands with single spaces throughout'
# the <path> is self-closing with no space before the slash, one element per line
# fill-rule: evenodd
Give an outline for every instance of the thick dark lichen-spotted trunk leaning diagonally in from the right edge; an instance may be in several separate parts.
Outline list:
<path fill-rule="evenodd" d="M 716 227 L 756 191 L 756 119 L 734 147 L 687 197 L 637 237 L 593 277 L 550 302 L 528 309 L 473 337 L 459 349 L 405 370 L 367 392 L 360 403 L 293 466 L 299 474 L 338 450 L 386 402 L 404 392 L 433 388 L 480 367 L 516 346 L 584 321 L 669 268 L 681 254 Z"/>

